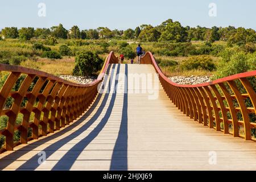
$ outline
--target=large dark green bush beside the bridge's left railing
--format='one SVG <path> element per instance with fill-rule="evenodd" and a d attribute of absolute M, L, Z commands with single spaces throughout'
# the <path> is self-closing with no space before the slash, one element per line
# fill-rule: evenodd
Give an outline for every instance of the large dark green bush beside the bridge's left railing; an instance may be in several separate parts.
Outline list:
<path fill-rule="evenodd" d="M 103 60 L 97 55 L 97 53 L 81 51 L 77 53 L 75 63 L 73 75 L 92 76 L 101 69 Z"/>

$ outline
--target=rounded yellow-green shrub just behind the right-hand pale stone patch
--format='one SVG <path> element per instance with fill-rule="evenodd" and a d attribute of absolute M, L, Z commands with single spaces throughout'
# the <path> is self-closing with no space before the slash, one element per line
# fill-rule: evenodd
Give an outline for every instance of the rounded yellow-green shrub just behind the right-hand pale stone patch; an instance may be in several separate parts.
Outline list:
<path fill-rule="evenodd" d="M 215 69 L 213 60 L 209 56 L 189 57 L 189 59 L 182 61 L 180 66 L 184 70 L 205 69 L 207 71 L 213 71 Z"/>

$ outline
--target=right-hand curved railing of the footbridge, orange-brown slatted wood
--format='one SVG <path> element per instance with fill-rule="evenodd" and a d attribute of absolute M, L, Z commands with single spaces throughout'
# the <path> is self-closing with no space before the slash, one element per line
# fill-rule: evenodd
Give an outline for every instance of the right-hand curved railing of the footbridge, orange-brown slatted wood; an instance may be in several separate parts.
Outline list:
<path fill-rule="evenodd" d="M 256 93 L 247 78 L 255 78 L 256 71 L 204 84 L 180 85 L 163 74 L 151 52 L 142 57 L 141 63 L 153 65 L 168 97 L 184 114 L 204 126 L 223 131 L 224 134 L 255 140 L 251 136 L 251 130 L 256 128 L 256 121 L 250 121 L 253 118 L 250 114 L 256 114 Z M 241 90 L 245 92 L 241 93 Z M 245 101 L 249 103 L 249 107 Z"/>

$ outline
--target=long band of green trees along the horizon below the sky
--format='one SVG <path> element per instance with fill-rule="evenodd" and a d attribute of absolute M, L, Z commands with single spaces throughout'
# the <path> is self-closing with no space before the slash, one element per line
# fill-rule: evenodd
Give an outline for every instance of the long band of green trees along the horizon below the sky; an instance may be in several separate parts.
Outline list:
<path fill-rule="evenodd" d="M 256 43 L 256 31 L 252 28 L 243 27 L 183 27 L 180 22 L 168 19 L 159 26 L 142 24 L 135 29 L 110 30 L 108 27 L 98 27 L 97 29 L 80 30 L 78 26 L 73 26 L 70 30 L 59 26 L 51 28 L 33 27 L 5 27 L 0 31 L 0 39 L 19 38 L 21 40 L 35 39 L 136 39 L 141 42 L 191 42 L 204 40 L 213 43 L 218 40 L 228 42 L 228 46 L 237 44 L 241 46 L 246 43 Z"/>

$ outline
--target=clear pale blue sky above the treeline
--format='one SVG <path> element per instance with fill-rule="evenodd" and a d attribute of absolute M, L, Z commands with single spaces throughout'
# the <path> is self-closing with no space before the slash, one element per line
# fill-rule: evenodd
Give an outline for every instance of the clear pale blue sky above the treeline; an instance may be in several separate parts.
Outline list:
<path fill-rule="evenodd" d="M 38 16 L 45 3 L 46 17 Z M 217 16 L 210 17 L 209 3 L 216 3 Z M 256 30 L 255 0 L 1 0 L 0 28 L 52 27 L 62 23 L 80 30 L 100 26 L 125 30 L 141 24 L 156 26 L 169 18 L 183 26 L 235 26 Z"/>

